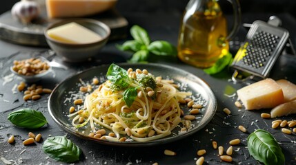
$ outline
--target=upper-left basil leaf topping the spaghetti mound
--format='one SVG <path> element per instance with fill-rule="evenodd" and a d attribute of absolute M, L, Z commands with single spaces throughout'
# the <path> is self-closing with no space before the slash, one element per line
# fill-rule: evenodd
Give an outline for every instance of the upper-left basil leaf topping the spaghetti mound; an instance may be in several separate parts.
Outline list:
<path fill-rule="evenodd" d="M 119 89 L 126 89 L 129 86 L 128 82 L 130 78 L 128 77 L 128 72 L 118 65 L 111 64 L 106 76 L 108 80 L 116 87 L 119 87 Z"/>

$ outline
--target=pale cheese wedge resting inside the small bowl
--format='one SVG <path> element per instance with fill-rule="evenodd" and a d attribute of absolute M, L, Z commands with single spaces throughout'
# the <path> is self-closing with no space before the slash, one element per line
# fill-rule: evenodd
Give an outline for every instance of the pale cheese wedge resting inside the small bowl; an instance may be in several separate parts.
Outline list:
<path fill-rule="evenodd" d="M 52 28 L 47 31 L 47 34 L 52 39 L 63 43 L 86 44 L 95 43 L 101 40 L 99 34 L 92 32 L 92 30 L 75 22 Z"/>

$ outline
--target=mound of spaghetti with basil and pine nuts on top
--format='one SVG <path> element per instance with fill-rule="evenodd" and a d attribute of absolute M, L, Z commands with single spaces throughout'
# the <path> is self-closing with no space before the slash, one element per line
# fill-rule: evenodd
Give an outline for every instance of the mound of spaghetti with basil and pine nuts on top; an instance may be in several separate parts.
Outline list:
<path fill-rule="evenodd" d="M 146 69 L 122 69 L 110 65 L 106 82 L 86 96 L 82 113 L 72 113 L 72 125 L 89 126 L 96 132 L 95 124 L 109 129 L 115 136 L 104 139 L 118 141 L 121 135 L 132 140 L 147 142 L 171 134 L 181 122 L 179 102 L 191 96 L 179 91 L 172 80 L 155 78 Z M 79 123 L 80 117 L 85 118 Z"/>

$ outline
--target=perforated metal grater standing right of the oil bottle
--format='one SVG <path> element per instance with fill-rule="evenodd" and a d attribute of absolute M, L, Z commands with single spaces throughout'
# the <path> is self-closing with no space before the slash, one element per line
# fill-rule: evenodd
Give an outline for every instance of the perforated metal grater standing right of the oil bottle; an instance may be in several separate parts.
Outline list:
<path fill-rule="evenodd" d="M 233 77 L 238 73 L 244 76 L 268 77 L 288 37 L 289 33 L 284 28 L 255 21 L 231 64 L 235 69 Z"/>

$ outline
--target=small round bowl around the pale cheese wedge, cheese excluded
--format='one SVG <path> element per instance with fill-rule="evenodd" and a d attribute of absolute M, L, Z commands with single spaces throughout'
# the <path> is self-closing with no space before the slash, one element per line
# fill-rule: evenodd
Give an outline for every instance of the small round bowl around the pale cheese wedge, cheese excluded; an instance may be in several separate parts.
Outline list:
<path fill-rule="evenodd" d="M 101 40 L 95 43 L 65 43 L 52 39 L 47 34 L 47 30 L 56 28 L 66 23 L 78 23 L 92 32 L 95 32 L 101 36 Z M 110 36 L 110 28 L 105 23 L 94 19 L 64 19 L 56 23 L 52 23 L 46 28 L 44 32 L 46 41 L 50 48 L 57 53 L 57 56 L 61 56 L 63 61 L 67 62 L 82 62 L 88 60 L 90 57 L 99 54 L 101 48 L 107 43 Z"/>

